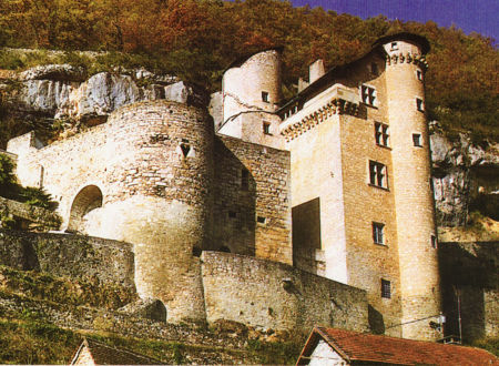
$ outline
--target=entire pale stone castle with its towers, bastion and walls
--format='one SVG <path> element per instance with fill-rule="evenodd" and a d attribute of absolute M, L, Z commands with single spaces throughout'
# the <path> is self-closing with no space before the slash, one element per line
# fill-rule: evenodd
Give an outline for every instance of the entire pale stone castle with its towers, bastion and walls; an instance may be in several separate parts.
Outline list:
<path fill-rule="evenodd" d="M 8 152 L 21 184 L 58 201 L 67 232 L 133 244 L 136 291 L 169 322 L 437 339 L 428 51 L 422 37 L 385 37 L 347 65 L 316 61 L 283 102 L 282 50 L 265 50 L 225 71 L 213 118 L 134 103 Z"/>

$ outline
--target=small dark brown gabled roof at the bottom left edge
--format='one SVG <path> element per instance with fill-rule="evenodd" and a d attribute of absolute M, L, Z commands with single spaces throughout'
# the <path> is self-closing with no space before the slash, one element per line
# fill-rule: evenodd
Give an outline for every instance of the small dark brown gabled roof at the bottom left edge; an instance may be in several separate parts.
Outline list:
<path fill-rule="evenodd" d="M 106 344 L 84 338 L 78 348 L 71 365 L 74 365 L 80 353 L 88 348 L 95 365 L 164 365 L 161 360 L 136 354 L 129 349 L 111 347 Z"/>

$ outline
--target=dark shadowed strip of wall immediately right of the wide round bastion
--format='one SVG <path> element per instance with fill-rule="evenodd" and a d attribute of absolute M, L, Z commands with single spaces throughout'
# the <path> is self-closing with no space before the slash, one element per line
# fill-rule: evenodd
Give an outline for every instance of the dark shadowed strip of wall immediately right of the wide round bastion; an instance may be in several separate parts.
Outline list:
<path fill-rule="evenodd" d="M 214 227 L 207 250 L 255 256 L 255 179 L 222 141 L 215 144 Z"/>

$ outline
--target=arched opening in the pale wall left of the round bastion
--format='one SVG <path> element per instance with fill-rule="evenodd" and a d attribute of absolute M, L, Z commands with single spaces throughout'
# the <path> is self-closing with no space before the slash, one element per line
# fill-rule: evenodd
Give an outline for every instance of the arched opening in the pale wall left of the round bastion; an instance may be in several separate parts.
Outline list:
<path fill-rule="evenodd" d="M 68 223 L 69 232 L 85 232 L 84 216 L 102 206 L 102 192 L 96 185 L 88 185 L 82 189 L 74 197 L 71 205 L 70 218 Z"/>

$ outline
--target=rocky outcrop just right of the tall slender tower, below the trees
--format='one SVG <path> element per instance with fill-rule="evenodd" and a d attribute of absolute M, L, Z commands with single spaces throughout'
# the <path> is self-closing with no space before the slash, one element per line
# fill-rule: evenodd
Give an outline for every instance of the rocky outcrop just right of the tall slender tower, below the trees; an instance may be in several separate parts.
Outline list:
<path fill-rule="evenodd" d="M 430 130 L 438 225 L 466 225 L 472 211 L 499 220 L 499 144 L 464 133 L 450 141 L 437 122 Z"/>

